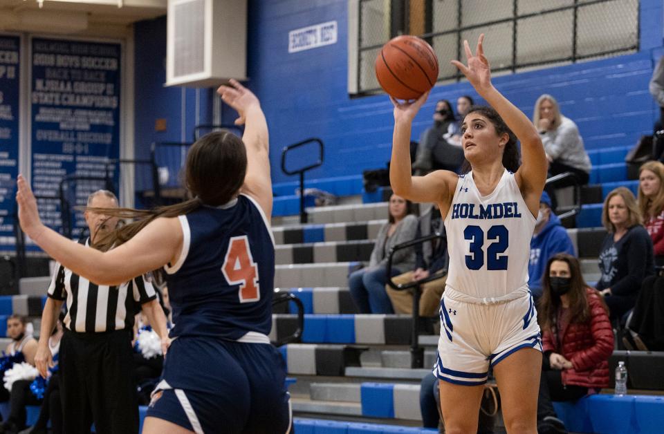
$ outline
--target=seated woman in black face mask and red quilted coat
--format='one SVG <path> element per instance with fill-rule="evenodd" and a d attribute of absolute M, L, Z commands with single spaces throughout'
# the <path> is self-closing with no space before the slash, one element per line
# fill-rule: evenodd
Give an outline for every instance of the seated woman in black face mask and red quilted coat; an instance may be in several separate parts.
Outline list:
<path fill-rule="evenodd" d="M 560 433 L 552 401 L 574 401 L 609 386 L 614 351 L 607 306 L 585 283 L 579 261 L 569 254 L 548 260 L 537 318 L 542 328 L 542 377 L 537 402 L 537 432 Z"/>

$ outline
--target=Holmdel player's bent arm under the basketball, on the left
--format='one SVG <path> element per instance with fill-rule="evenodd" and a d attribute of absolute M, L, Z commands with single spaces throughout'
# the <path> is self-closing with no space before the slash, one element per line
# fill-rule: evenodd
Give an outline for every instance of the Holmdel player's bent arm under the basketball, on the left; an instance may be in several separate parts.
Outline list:
<path fill-rule="evenodd" d="M 410 136 L 413 119 L 427 100 L 425 93 L 415 102 L 394 104 L 394 133 L 392 135 L 392 157 L 389 163 L 389 183 L 398 196 L 413 202 L 436 202 L 444 209 L 448 201 L 450 182 L 456 185 L 457 174 L 450 171 L 434 171 L 427 176 L 412 176 L 410 162 Z"/>

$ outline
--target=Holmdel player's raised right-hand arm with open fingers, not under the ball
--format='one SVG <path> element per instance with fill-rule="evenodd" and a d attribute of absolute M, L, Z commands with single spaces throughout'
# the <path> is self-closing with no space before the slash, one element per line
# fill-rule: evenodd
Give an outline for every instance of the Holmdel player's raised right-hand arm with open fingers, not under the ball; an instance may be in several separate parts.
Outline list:
<path fill-rule="evenodd" d="M 458 60 L 452 60 L 452 64 L 459 68 L 477 93 L 498 112 L 521 142 L 522 166 L 516 173 L 517 182 L 528 208 L 531 211 L 535 209 L 535 214 L 537 214 L 548 169 L 542 140 L 528 117 L 493 87 L 489 61 L 484 56 L 483 41 L 484 35 L 482 34 L 477 41 L 477 50 L 474 55 L 468 41 L 463 41 L 468 66 Z"/>

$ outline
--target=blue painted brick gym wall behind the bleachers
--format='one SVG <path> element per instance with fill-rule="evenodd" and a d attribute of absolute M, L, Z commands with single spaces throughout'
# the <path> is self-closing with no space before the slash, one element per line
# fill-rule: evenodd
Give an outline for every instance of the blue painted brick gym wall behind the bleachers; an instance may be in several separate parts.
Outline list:
<path fill-rule="evenodd" d="M 347 93 L 347 0 L 250 0 L 248 22 L 249 86 L 259 96 L 270 126 L 270 158 L 275 182 L 295 180 L 280 169 L 281 150 L 309 137 L 325 142 L 325 162 L 308 178 L 355 175 L 385 167 L 391 144 L 391 103 L 385 95 L 351 99 Z M 337 21 L 338 42 L 288 54 L 288 32 Z M 656 59 L 662 54 L 663 4 L 640 2 L 640 50 L 633 55 L 582 62 L 495 77 L 495 85 L 528 116 L 541 93 L 557 97 L 562 112 L 577 122 L 588 149 L 634 144 L 652 130 L 658 110 L 648 93 Z M 165 19 L 136 25 L 136 155 L 146 155 L 156 140 L 181 140 L 195 124 L 192 90 L 183 111 L 179 88 L 165 82 Z M 145 53 L 150 53 L 148 56 Z M 490 53 L 489 53 L 490 55 Z M 447 62 L 447 59 L 439 59 Z M 441 98 L 474 95 L 465 82 L 436 86 L 414 123 L 414 139 L 431 122 Z M 210 93 L 204 116 L 210 117 Z M 206 111 L 207 110 L 207 111 Z M 165 133 L 154 120 L 167 118 Z M 224 121 L 232 120 L 230 109 Z"/>

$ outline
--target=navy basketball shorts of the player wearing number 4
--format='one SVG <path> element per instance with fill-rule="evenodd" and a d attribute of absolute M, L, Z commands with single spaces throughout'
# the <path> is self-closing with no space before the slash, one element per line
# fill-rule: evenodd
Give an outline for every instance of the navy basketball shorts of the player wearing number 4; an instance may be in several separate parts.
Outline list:
<path fill-rule="evenodd" d="M 266 343 L 175 339 L 147 416 L 194 433 L 288 433 L 291 401 L 282 355 Z"/>

